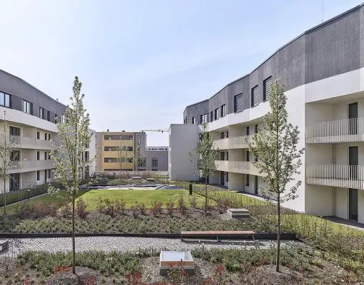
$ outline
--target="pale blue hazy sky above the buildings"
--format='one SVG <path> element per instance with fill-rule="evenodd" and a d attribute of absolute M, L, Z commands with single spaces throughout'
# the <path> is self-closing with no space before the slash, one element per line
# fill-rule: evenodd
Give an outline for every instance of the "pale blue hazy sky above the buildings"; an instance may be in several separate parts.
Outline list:
<path fill-rule="evenodd" d="M 0 0 L 0 69 L 67 105 L 83 83 L 91 128 L 168 129 L 280 46 L 364 0 Z M 168 134 L 147 133 L 147 145 Z"/>

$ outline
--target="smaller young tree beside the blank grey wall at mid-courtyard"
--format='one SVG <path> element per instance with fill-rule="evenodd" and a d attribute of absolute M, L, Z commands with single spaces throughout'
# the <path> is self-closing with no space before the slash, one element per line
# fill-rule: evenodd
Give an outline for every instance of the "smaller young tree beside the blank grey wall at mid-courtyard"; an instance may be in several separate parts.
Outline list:
<path fill-rule="evenodd" d="M 196 176 L 205 180 L 205 213 L 207 212 L 207 180 L 215 172 L 215 160 L 218 159 L 218 149 L 213 148 L 213 140 L 206 132 L 206 123 L 202 123 L 200 143 L 193 153 L 190 153 L 197 171 Z"/>

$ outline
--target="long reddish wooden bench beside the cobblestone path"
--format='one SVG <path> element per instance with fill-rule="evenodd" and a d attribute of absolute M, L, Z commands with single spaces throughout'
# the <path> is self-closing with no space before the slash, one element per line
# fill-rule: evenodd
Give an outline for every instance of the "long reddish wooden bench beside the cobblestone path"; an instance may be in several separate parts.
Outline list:
<path fill-rule="evenodd" d="M 220 240 L 221 237 L 225 237 L 226 239 L 238 239 L 238 238 L 250 238 L 253 241 L 256 240 L 256 232 L 253 231 L 195 231 L 195 232 L 181 232 L 181 240 L 183 238 L 211 238 L 215 237 L 217 241 Z"/>

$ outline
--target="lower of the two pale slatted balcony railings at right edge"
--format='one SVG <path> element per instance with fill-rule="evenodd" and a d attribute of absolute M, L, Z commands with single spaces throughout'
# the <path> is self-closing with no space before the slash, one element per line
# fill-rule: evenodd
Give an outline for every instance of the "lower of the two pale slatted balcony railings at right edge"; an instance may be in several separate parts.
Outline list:
<path fill-rule="evenodd" d="M 364 190 L 364 165 L 306 165 L 305 182 Z"/>

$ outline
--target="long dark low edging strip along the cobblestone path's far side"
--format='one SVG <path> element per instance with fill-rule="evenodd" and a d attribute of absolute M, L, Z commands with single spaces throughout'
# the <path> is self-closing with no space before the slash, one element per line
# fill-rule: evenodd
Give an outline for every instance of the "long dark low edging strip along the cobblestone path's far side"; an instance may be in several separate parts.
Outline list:
<path fill-rule="evenodd" d="M 76 233 L 76 237 L 160 237 L 169 239 L 180 239 L 181 232 L 173 233 Z M 72 237 L 71 233 L 0 233 L 0 239 L 24 239 L 45 237 Z M 206 237 L 204 238 L 206 239 Z M 226 237 L 229 239 L 229 237 Z M 256 239 L 276 240 L 277 233 L 257 233 Z M 297 240 L 293 233 L 281 233 L 281 240 Z"/>

